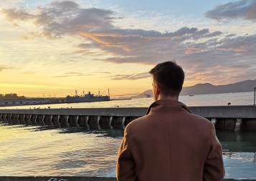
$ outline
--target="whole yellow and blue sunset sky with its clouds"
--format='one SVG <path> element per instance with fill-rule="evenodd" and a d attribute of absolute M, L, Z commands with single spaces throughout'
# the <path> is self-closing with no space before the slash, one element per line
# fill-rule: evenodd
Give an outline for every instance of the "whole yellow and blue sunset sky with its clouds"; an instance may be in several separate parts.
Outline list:
<path fill-rule="evenodd" d="M 0 94 L 135 94 L 176 59 L 185 86 L 256 77 L 256 1 L 0 1 Z"/>

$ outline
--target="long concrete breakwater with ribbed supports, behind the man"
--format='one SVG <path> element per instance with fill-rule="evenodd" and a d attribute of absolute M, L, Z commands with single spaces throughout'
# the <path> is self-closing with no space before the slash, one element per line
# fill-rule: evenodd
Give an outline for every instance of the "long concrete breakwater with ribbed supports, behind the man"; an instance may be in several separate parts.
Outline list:
<path fill-rule="evenodd" d="M 191 112 L 211 121 L 216 129 L 256 131 L 256 106 L 189 107 Z M 85 127 L 87 129 L 124 129 L 146 114 L 146 107 L 0 109 L 0 120 L 9 124 Z"/>

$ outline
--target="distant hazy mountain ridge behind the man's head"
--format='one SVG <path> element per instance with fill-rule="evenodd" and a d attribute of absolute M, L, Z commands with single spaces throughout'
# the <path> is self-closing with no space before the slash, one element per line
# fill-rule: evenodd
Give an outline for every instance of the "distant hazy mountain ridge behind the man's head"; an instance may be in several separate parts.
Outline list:
<path fill-rule="evenodd" d="M 234 84 L 226 85 L 213 85 L 209 83 L 205 84 L 195 84 L 194 86 L 184 87 L 182 89 L 181 95 L 196 95 L 196 94 L 222 94 L 229 92 L 252 92 L 256 87 L 256 80 L 245 80 L 242 82 L 237 82 Z M 145 97 L 146 94 L 151 95 L 152 90 L 146 90 L 145 92 L 138 94 L 131 98 L 141 98 Z"/>

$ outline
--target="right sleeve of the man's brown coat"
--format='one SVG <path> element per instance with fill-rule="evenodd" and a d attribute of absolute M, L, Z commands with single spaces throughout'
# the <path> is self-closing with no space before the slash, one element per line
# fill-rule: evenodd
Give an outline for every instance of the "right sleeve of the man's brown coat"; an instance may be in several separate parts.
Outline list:
<path fill-rule="evenodd" d="M 222 146 L 216 136 L 214 125 L 211 124 L 211 147 L 204 163 L 204 181 L 222 181 L 225 170 L 222 159 Z"/>

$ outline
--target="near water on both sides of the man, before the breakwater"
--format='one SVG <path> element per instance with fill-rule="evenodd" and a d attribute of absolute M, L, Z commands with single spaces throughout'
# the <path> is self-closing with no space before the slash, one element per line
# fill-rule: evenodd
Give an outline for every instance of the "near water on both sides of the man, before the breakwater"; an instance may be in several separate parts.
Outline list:
<path fill-rule="evenodd" d="M 256 132 L 217 132 L 226 178 L 256 179 Z M 120 130 L 0 124 L 0 175 L 115 177 Z"/>

